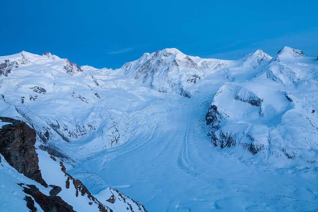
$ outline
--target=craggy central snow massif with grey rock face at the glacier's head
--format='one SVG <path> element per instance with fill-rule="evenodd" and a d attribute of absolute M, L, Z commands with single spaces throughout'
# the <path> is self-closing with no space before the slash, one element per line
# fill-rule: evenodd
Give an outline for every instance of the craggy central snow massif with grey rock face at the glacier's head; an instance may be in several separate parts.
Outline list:
<path fill-rule="evenodd" d="M 228 61 L 192 57 L 172 48 L 145 53 L 138 60 L 123 65 L 121 71 L 160 92 L 173 90 L 190 98 L 191 85 L 206 75 L 218 73 L 234 80 L 237 75 L 246 74 L 248 78 L 255 74 L 254 69 L 261 69 L 271 59 L 262 50 L 245 55 L 239 61 Z"/>

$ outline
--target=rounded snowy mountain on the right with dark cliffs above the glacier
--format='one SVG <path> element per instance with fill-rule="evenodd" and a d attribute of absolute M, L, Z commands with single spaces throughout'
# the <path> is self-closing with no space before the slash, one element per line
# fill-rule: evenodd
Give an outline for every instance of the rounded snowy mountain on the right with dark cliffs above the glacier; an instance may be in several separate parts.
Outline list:
<path fill-rule="evenodd" d="M 206 115 L 212 143 L 248 161 L 316 170 L 317 71 L 314 58 L 284 47 L 255 78 L 225 83 Z"/>

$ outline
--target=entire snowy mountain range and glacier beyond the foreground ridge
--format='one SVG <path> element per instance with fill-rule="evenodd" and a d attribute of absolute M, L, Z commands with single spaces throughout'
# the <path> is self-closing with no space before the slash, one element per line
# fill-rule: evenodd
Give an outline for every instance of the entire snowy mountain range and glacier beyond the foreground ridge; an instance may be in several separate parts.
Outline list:
<path fill-rule="evenodd" d="M 0 116 L 33 128 L 37 151 L 94 196 L 113 186 L 150 211 L 317 208 L 318 61 L 301 50 L 230 61 L 172 48 L 116 70 L 23 51 L 0 57 L 0 94 Z"/>

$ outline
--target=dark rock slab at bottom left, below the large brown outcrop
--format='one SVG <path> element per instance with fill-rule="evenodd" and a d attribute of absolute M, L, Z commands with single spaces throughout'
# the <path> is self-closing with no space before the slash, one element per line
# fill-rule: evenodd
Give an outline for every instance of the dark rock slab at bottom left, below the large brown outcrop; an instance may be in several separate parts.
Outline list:
<path fill-rule="evenodd" d="M 22 184 L 21 184 L 22 186 Z M 39 191 L 35 185 L 22 186 L 24 193 L 31 195 L 44 212 L 76 212 L 73 206 L 67 204 L 59 196 L 47 196 Z"/>

